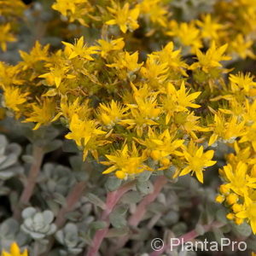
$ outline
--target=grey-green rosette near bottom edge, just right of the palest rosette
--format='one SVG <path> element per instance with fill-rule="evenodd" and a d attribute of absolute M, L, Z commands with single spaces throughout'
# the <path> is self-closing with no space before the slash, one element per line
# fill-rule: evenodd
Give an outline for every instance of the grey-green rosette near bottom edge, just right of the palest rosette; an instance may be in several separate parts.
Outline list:
<path fill-rule="evenodd" d="M 76 224 L 68 223 L 55 234 L 56 240 L 65 248 L 61 250 L 61 255 L 77 255 L 83 251 L 84 237 L 79 233 L 79 228 Z"/>

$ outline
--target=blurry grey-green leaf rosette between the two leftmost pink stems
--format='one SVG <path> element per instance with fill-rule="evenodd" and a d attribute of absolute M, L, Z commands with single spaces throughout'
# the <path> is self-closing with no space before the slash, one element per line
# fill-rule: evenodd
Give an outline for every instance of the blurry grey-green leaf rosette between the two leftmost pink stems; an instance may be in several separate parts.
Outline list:
<path fill-rule="evenodd" d="M 67 166 L 53 163 L 45 164 L 38 177 L 41 195 L 53 212 L 57 212 L 59 205 L 66 202 L 65 198 L 75 182 L 73 172 Z"/>

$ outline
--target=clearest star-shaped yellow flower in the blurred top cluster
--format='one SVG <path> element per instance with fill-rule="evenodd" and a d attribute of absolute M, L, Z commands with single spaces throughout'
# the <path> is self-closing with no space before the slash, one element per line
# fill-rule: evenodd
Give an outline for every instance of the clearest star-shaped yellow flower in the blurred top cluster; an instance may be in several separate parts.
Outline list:
<path fill-rule="evenodd" d="M 114 4 L 113 8 L 108 7 L 108 10 L 113 15 L 113 20 L 108 20 L 108 25 L 118 25 L 121 32 L 125 33 L 127 30 L 131 32 L 136 30 L 139 26 L 137 24 L 137 18 L 140 12 L 138 6 L 134 9 L 130 9 L 130 4 L 125 3 L 123 8 L 120 8 L 118 4 Z"/>

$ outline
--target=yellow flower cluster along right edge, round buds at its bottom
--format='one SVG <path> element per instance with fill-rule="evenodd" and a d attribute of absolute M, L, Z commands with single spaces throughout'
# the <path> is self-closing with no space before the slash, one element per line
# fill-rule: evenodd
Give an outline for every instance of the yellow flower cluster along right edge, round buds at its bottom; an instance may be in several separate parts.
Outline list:
<path fill-rule="evenodd" d="M 249 73 L 230 74 L 228 91 L 215 100 L 223 101 L 223 108 L 215 113 L 214 133 L 211 143 L 222 135 L 234 153 L 226 156 L 227 165 L 220 169 L 224 183 L 219 188 L 216 201 L 229 208 L 227 218 L 236 224 L 250 222 L 256 233 L 256 119 L 255 82 Z M 227 102 L 227 103 L 226 103 Z M 229 120 L 227 122 L 227 120 Z"/>

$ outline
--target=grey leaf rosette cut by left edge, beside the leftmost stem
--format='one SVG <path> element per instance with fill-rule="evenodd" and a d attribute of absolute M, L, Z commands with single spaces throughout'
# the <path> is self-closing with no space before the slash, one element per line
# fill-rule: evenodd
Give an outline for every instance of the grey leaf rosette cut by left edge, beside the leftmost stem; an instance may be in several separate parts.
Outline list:
<path fill-rule="evenodd" d="M 23 171 L 18 163 L 20 153 L 20 145 L 9 143 L 5 136 L 0 135 L 0 180 L 9 179 Z"/>

